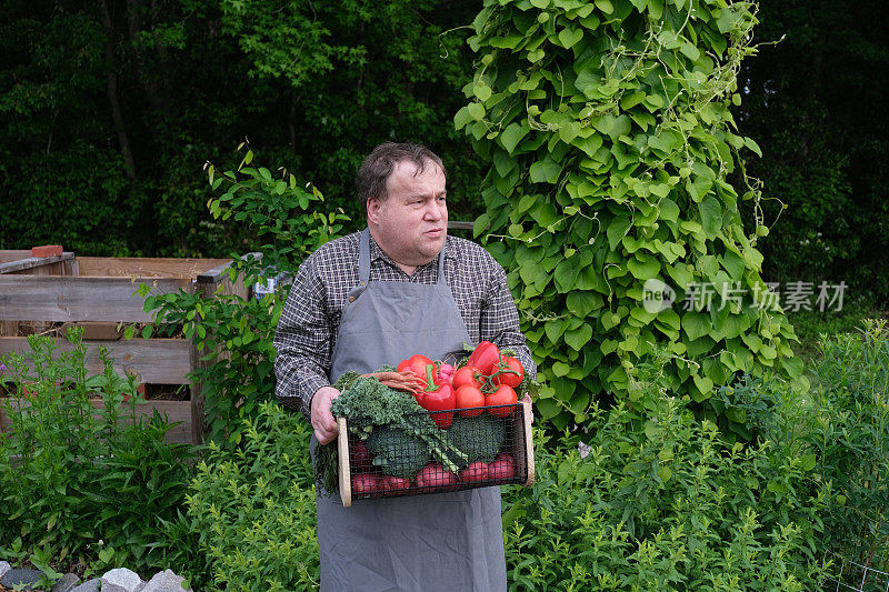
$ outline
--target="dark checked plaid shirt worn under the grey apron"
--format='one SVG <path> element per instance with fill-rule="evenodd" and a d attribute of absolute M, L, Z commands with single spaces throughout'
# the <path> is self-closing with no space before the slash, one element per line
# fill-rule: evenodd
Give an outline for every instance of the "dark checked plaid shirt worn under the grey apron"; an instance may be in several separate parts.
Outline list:
<path fill-rule="evenodd" d="M 291 409 L 311 417 L 311 399 L 330 384 L 333 345 L 349 290 L 358 284 L 358 239 L 360 233 L 328 242 L 300 265 L 274 333 L 276 394 Z M 444 279 L 457 301 L 469 337 L 492 341 L 517 352 L 526 373 L 537 367 L 519 331 L 516 302 L 507 285 L 503 268 L 475 242 L 448 237 L 444 243 Z M 371 237 L 370 281 L 404 281 L 432 284 L 438 280 L 438 261 L 404 273 Z M 392 363 L 398 363 L 393 360 Z"/>

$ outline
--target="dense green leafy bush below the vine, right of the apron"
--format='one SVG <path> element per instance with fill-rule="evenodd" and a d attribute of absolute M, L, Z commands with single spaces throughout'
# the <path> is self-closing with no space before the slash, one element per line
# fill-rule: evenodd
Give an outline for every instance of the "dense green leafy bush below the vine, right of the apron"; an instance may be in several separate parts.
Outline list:
<path fill-rule="evenodd" d="M 811 464 L 769 441 L 726 443 L 668 394 L 662 360 L 639 368 L 639 398 L 593 405 L 591 434 L 536 433 L 536 483 L 505 496 L 511 589 L 813 589 Z"/>

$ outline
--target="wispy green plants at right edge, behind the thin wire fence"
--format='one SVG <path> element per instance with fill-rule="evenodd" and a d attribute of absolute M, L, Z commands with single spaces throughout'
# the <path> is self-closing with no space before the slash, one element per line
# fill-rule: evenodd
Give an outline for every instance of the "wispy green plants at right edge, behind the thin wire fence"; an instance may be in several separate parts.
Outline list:
<path fill-rule="evenodd" d="M 809 441 L 825 490 L 827 549 L 889 572 L 889 327 L 823 337 Z"/>

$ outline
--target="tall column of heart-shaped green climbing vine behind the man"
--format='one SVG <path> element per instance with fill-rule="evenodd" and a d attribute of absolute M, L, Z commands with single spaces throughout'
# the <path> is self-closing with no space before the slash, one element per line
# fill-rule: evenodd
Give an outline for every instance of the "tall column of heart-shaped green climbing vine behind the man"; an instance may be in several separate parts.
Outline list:
<path fill-rule="evenodd" d="M 455 117 L 488 162 L 475 233 L 507 268 L 557 427 L 636 364 L 697 402 L 740 372 L 806 387 L 738 200 L 760 197 L 730 111 L 757 51 L 753 2 L 486 0 L 471 101 Z M 740 191 L 732 182 L 740 187 Z M 712 409 L 702 405 L 702 409 Z M 725 418 L 723 418 L 725 419 Z"/>

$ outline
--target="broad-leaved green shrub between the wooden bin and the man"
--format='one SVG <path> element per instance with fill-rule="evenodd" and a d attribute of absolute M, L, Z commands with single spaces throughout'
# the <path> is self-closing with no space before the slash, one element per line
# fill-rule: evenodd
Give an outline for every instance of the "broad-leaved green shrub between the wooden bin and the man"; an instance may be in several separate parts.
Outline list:
<path fill-rule="evenodd" d="M 317 189 L 298 187 L 287 171 L 274 177 L 263 167 L 248 167 L 252 159 L 253 152 L 248 150 L 237 172 L 217 175 L 212 165 L 208 169 L 212 189 L 223 189 L 208 202 L 212 215 L 220 220 L 231 218 L 247 235 L 269 241 L 261 247 L 261 258 L 231 255 L 234 262 L 228 279 L 244 285 L 296 274 L 302 259 L 336 237 L 342 229 L 340 222 L 347 219 L 339 212 L 324 214 L 314 210 L 323 201 Z M 241 438 L 238 419 L 254 414 L 259 402 L 273 399 L 272 338 L 288 292 L 284 281 L 274 293 L 261 299 L 189 294 L 183 290 L 146 298 L 144 310 L 156 311 L 153 331 L 170 334 L 182 328 L 186 338 L 199 351 L 207 352 L 207 367 L 193 371 L 190 378 L 204 385 L 210 439 L 237 444 Z"/>

